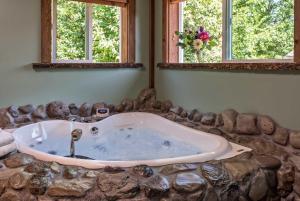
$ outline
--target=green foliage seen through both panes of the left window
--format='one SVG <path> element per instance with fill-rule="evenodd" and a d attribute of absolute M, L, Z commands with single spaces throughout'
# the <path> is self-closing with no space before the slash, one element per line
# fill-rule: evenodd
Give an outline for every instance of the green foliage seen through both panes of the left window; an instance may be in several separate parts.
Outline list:
<path fill-rule="evenodd" d="M 93 5 L 94 62 L 119 62 L 120 8 Z M 57 0 L 57 60 L 86 59 L 86 4 Z"/>

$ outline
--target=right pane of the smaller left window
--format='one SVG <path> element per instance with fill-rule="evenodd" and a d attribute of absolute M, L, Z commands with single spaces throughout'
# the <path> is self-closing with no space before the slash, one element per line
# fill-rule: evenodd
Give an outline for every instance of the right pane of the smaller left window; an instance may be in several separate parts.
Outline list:
<path fill-rule="evenodd" d="M 93 60 L 119 62 L 120 8 L 95 5 L 93 9 Z"/>

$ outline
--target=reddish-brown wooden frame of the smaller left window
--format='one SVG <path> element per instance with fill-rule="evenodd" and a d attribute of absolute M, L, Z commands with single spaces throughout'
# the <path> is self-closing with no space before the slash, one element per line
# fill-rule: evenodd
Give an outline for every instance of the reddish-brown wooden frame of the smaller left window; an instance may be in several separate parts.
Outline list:
<path fill-rule="evenodd" d="M 76 0 L 121 7 L 120 63 L 135 63 L 136 0 Z M 53 63 L 53 0 L 41 0 L 41 63 Z M 87 56 L 90 59 L 90 55 Z M 87 60 L 90 62 L 91 60 Z M 82 61 L 79 61 L 82 62 Z"/>

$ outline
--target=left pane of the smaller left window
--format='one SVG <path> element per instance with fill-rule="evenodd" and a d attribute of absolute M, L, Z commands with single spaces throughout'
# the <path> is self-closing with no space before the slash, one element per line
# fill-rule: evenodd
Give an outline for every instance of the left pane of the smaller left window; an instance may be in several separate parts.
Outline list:
<path fill-rule="evenodd" d="M 85 59 L 84 3 L 57 0 L 57 60 Z"/>

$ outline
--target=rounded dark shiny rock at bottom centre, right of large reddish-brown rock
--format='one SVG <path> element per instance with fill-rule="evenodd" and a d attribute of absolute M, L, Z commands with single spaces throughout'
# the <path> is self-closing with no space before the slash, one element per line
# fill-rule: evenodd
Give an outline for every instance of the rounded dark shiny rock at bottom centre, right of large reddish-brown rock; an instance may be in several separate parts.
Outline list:
<path fill-rule="evenodd" d="M 170 190 L 170 185 L 165 177 L 154 175 L 142 184 L 142 189 L 147 197 L 152 198 L 167 193 Z"/>

